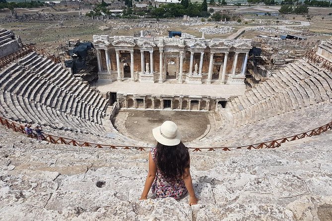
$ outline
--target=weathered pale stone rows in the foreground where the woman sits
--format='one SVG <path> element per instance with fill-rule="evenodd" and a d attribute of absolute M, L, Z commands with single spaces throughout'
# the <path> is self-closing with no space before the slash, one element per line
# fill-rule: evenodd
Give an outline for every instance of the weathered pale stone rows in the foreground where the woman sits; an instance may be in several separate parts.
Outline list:
<path fill-rule="evenodd" d="M 276 149 L 190 152 L 200 199 L 190 207 L 188 196 L 138 201 L 147 151 L 46 144 L 0 129 L 0 217 L 7 221 L 332 218 L 331 131 Z"/>

